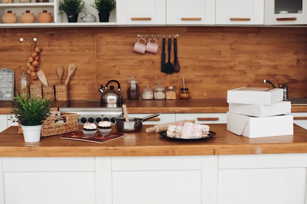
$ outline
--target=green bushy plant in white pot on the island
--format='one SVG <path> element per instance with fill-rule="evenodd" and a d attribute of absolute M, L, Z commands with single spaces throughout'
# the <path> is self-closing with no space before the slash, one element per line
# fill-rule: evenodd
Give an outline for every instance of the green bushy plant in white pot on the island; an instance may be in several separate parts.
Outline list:
<path fill-rule="evenodd" d="M 11 102 L 14 105 L 12 113 L 15 118 L 11 117 L 10 120 L 21 124 L 25 142 L 38 142 L 42 123 L 49 116 L 53 101 L 36 98 L 33 94 L 28 97 L 19 94 L 13 97 Z"/>

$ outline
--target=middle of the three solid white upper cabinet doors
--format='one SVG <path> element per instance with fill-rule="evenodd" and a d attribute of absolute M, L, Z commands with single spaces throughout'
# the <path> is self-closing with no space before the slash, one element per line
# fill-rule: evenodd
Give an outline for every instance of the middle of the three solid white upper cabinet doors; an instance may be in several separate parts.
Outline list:
<path fill-rule="evenodd" d="M 215 0 L 166 0 L 166 24 L 215 24 Z"/>

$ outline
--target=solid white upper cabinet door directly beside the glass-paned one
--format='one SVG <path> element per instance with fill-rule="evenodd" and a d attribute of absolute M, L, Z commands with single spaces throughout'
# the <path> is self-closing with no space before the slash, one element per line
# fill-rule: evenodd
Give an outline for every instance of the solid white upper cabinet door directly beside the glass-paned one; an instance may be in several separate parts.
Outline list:
<path fill-rule="evenodd" d="M 264 0 L 216 0 L 216 24 L 263 25 Z"/>

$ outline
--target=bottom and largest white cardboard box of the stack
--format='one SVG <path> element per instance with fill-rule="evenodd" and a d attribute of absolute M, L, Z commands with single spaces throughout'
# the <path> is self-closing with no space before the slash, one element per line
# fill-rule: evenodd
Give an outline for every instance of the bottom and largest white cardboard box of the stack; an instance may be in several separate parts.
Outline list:
<path fill-rule="evenodd" d="M 227 130 L 250 138 L 293 135 L 293 115 L 252 117 L 227 112 Z"/>

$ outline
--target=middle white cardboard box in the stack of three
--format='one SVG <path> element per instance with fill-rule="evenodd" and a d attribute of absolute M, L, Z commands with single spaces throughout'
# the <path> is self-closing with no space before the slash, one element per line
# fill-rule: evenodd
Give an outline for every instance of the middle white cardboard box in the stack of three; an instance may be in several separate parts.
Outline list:
<path fill-rule="evenodd" d="M 282 115 L 291 113 L 291 102 L 280 101 L 272 105 L 230 103 L 229 112 L 255 117 Z"/>

